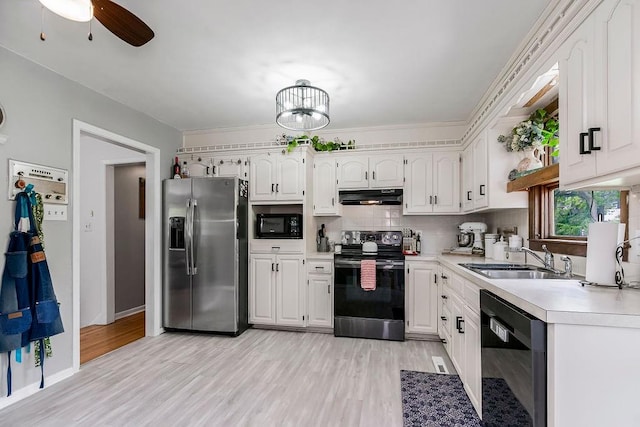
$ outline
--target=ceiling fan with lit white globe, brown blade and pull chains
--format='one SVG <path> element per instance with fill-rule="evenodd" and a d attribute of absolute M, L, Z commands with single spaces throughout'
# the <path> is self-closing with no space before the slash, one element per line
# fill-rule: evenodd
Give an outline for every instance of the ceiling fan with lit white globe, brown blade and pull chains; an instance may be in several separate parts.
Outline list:
<path fill-rule="evenodd" d="M 107 30 L 132 46 L 142 46 L 155 35 L 140 18 L 110 0 L 40 0 L 40 3 L 72 21 L 87 22 L 95 17 Z M 40 38 L 44 40 L 44 34 Z M 92 39 L 89 33 L 89 40 Z"/>

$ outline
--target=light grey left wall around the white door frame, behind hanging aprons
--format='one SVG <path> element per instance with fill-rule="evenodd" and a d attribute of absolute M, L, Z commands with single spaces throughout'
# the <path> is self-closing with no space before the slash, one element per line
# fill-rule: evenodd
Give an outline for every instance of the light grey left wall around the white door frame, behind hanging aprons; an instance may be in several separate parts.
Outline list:
<path fill-rule="evenodd" d="M 0 47 L 0 100 L 7 121 L 2 133 L 8 137 L 0 144 L 0 164 L 8 159 L 72 170 L 72 120 L 79 119 L 119 135 L 127 136 L 161 150 L 161 162 L 166 164 L 163 178 L 169 176 L 169 166 L 182 134 L 176 129 L 67 80 L 51 70 L 30 62 Z M 6 169 L 4 169 L 6 170 Z M 0 188 L 7 188 L 7 175 L 0 173 Z M 53 356 L 46 361 L 48 377 L 73 366 L 72 316 L 72 212 L 75 200 L 70 200 L 66 221 L 46 221 L 46 255 L 56 296 L 60 302 L 65 332 L 52 337 Z M 6 248 L 12 230 L 14 202 L 0 199 L 0 236 Z M 79 232 L 79 231 L 78 231 Z M 4 257 L 0 259 L 4 268 Z M 0 358 L 0 372 L 6 371 L 7 358 Z M 12 364 L 13 390 L 40 381 L 40 369 L 34 366 L 33 352 L 24 354 L 23 363 Z M 2 381 L 6 395 L 6 381 Z M 4 399 L 0 397 L 0 405 Z"/>

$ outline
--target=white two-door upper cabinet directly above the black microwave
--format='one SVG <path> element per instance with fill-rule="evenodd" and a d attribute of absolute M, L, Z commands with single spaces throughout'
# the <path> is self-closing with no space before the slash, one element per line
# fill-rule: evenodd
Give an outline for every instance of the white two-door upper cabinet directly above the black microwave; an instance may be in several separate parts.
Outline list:
<path fill-rule="evenodd" d="M 305 186 L 305 156 L 301 153 L 270 152 L 251 158 L 251 191 L 256 201 L 302 201 Z"/>

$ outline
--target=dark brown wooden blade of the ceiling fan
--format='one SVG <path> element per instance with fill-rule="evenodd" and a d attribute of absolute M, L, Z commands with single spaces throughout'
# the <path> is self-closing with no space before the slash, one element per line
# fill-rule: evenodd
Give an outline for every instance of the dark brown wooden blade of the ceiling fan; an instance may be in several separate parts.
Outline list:
<path fill-rule="evenodd" d="M 132 46 L 142 46 L 153 38 L 153 30 L 140 18 L 110 0 L 91 0 L 93 16 L 116 36 Z"/>

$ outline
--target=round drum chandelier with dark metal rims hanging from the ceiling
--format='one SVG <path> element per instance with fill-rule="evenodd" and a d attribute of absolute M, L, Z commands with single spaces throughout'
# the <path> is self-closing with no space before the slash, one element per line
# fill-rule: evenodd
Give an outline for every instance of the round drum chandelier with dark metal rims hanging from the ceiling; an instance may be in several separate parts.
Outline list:
<path fill-rule="evenodd" d="M 276 123 L 285 129 L 311 131 L 329 124 L 329 95 L 298 80 L 276 95 Z"/>

